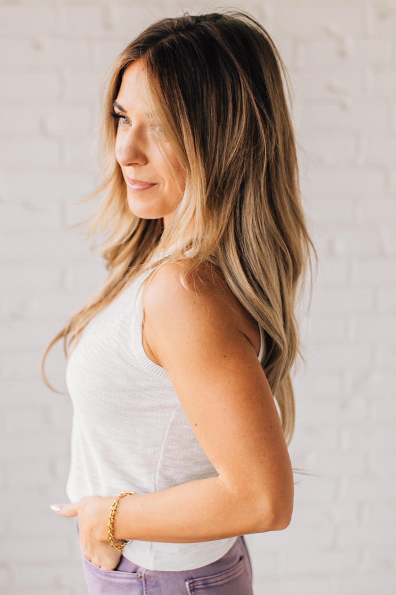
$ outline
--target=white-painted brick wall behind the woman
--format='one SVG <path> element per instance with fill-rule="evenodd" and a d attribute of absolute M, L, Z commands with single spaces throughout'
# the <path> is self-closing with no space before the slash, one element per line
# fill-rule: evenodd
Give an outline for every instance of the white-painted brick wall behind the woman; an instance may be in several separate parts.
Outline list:
<path fill-rule="evenodd" d="M 237 6 L 239 3 L 236 5 Z M 43 347 L 104 276 L 82 240 L 98 179 L 100 84 L 154 18 L 225 2 L 0 2 L 0 590 L 86 593 L 66 502 L 71 406 Z M 292 523 L 246 536 L 255 595 L 391 595 L 396 585 L 396 2 L 240 7 L 292 77 L 306 211 L 319 250 L 299 366 Z M 61 346 L 47 360 L 65 389 Z M 5 513 L 7 512 L 7 513 Z M 17 547 L 15 546 L 17 544 Z"/>

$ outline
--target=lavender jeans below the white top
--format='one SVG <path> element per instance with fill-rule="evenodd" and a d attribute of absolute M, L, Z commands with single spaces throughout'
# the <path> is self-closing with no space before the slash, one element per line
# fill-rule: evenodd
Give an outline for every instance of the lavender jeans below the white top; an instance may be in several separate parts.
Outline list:
<path fill-rule="evenodd" d="M 220 559 L 193 570 L 148 570 L 122 554 L 114 570 L 103 570 L 80 553 L 89 595 L 253 595 L 243 535 Z"/>

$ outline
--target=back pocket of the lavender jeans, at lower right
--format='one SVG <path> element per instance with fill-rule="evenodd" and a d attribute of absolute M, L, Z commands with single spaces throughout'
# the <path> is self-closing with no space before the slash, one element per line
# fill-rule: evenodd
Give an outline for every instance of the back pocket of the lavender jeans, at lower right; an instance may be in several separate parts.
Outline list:
<path fill-rule="evenodd" d="M 241 554 L 230 568 L 204 577 L 188 578 L 185 584 L 189 595 L 195 595 L 201 589 L 211 595 L 248 595 L 251 583 L 246 571 L 246 557 Z"/>

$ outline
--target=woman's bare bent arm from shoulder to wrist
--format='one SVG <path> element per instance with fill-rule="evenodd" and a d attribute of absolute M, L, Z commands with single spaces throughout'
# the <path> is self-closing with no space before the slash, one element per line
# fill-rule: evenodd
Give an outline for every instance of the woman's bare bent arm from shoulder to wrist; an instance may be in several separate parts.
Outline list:
<path fill-rule="evenodd" d="M 178 274 L 166 264 L 147 287 L 145 337 L 218 477 L 122 498 L 115 538 L 186 543 L 283 529 L 293 474 L 267 378 L 216 287 L 197 299 Z M 100 503 L 103 540 L 114 497 Z"/>

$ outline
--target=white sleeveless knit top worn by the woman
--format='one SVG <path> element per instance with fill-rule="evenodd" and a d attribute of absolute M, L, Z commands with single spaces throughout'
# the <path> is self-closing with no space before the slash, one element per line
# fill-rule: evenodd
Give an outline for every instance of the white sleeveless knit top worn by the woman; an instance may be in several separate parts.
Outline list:
<path fill-rule="evenodd" d="M 218 475 L 169 375 L 142 346 L 142 292 L 134 302 L 145 274 L 88 322 L 68 359 L 66 386 L 73 415 L 66 494 L 72 503 L 84 496 L 116 497 L 119 491 L 166 490 Z M 259 359 L 264 352 L 261 327 L 260 336 Z M 236 539 L 132 539 L 122 555 L 149 570 L 182 571 L 215 562 Z"/>

